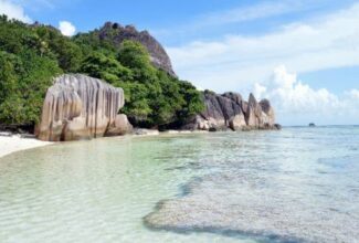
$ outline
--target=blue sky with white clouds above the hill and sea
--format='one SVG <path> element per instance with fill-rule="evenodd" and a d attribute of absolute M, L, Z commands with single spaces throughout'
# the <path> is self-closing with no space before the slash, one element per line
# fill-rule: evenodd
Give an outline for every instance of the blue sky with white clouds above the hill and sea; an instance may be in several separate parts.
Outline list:
<path fill-rule="evenodd" d="M 283 125 L 359 125 L 359 1 L 0 0 L 0 13 L 68 36 L 134 24 L 199 89 L 268 98 Z"/>

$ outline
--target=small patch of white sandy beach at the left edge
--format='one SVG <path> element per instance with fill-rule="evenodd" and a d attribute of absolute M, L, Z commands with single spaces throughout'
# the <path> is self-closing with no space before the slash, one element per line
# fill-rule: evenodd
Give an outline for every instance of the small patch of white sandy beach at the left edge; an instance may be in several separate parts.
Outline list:
<path fill-rule="evenodd" d="M 0 158 L 15 151 L 51 145 L 35 138 L 22 138 L 20 135 L 0 136 Z"/>

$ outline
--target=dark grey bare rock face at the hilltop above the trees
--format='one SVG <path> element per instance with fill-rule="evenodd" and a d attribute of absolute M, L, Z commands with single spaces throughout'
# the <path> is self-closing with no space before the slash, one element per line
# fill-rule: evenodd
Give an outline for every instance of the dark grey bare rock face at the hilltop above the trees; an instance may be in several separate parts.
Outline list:
<path fill-rule="evenodd" d="M 125 40 L 140 42 L 148 50 L 151 62 L 155 66 L 166 71 L 171 76 L 176 76 L 176 73 L 172 70 L 171 61 L 165 49 L 147 31 L 139 32 L 133 25 L 122 27 L 118 23 L 107 22 L 102 29 L 98 30 L 97 34 L 99 40 L 108 41 L 118 47 Z"/>

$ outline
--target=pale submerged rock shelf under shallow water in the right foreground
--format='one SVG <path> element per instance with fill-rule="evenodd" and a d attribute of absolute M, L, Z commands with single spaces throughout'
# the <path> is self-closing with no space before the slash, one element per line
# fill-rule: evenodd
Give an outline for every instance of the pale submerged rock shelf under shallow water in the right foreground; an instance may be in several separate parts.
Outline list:
<path fill-rule="evenodd" d="M 145 225 L 173 232 L 249 235 L 258 242 L 357 242 L 355 209 L 342 212 L 334 202 L 324 207 L 320 200 L 313 202 L 318 196 L 310 191 L 283 192 L 273 175 L 243 171 L 243 162 L 191 180 L 179 197 L 160 201 L 144 218 Z M 247 162 L 253 167 L 253 160 Z"/>

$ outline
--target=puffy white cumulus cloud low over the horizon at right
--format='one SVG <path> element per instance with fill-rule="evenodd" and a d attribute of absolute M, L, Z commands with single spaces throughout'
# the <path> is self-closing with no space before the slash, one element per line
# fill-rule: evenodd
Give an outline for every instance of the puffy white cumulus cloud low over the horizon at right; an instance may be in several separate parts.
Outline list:
<path fill-rule="evenodd" d="M 335 95 L 326 88 L 314 89 L 298 81 L 284 65 L 276 67 L 272 77 L 254 84 L 257 98 L 268 98 L 283 124 L 350 124 L 359 122 L 359 91 Z"/>

